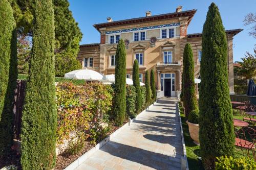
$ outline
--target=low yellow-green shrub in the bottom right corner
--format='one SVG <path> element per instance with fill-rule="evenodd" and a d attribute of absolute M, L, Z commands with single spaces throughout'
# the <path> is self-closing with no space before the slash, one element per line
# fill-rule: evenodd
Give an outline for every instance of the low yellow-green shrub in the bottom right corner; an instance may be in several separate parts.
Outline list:
<path fill-rule="evenodd" d="M 256 169 L 256 162 L 253 159 L 246 157 L 242 158 L 228 158 L 221 156 L 217 158 L 216 170 L 253 170 Z"/>

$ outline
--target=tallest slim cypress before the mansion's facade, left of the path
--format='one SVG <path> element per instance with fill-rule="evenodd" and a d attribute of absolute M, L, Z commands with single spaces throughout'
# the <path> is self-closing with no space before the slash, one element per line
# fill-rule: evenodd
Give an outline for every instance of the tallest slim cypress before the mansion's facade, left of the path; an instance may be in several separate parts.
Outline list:
<path fill-rule="evenodd" d="M 121 126 L 123 124 L 126 111 L 126 52 L 123 39 L 121 39 L 117 44 L 115 60 L 114 113 L 116 115 L 116 125 Z"/>

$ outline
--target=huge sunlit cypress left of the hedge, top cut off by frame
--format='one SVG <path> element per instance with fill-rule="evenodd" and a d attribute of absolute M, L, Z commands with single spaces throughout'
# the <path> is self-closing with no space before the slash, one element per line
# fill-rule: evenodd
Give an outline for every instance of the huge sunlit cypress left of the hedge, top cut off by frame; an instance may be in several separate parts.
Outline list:
<path fill-rule="evenodd" d="M 54 73 L 54 12 L 52 0 L 33 1 L 33 46 L 22 116 L 23 169 L 55 165 L 57 107 Z"/>

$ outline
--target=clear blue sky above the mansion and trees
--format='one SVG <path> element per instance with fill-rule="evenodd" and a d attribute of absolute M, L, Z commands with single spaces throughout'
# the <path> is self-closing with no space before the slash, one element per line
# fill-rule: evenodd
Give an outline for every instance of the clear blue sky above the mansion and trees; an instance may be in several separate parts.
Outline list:
<path fill-rule="evenodd" d="M 70 10 L 83 33 L 80 44 L 98 43 L 100 34 L 93 25 L 106 22 L 108 16 L 112 17 L 113 20 L 121 20 L 145 16 L 146 11 L 151 11 L 152 15 L 157 15 L 175 12 L 179 5 L 183 6 L 182 10 L 197 9 L 188 26 L 188 34 L 200 33 L 211 2 L 219 7 L 226 30 L 244 29 L 233 39 L 234 61 L 239 61 L 241 57 L 244 57 L 246 51 L 252 53 L 254 44 L 256 44 L 256 39 L 248 35 L 250 26 L 245 27 L 243 25 L 244 16 L 249 12 L 256 12 L 255 0 L 70 0 L 69 2 Z"/>

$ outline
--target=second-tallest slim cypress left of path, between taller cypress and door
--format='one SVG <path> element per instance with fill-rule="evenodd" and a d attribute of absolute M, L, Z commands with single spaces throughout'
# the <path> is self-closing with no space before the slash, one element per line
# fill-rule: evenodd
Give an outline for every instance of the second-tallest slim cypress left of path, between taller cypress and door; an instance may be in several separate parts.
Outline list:
<path fill-rule="evenodd" d="M 133 63 L 133 86 L 136 88 L 136 113 L 141 109 L 141 91 L 140 91 L 140 77 L 139 77 L 139 63 L 135 60 Z"/>

